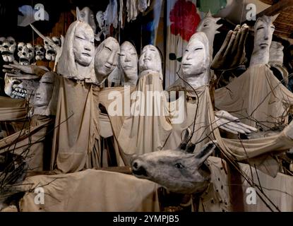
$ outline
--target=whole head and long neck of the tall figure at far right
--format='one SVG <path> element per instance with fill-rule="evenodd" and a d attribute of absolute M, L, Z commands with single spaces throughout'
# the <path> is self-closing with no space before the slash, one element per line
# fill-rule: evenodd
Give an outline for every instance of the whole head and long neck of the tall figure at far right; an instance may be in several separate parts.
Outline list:
<path fill-rule="evenodd" d="M 250 66 L 255 64 L 268 64 L 270 56 L 270 44 L 273 39 L 273 18 L 262 16 L 256 20 L 254 25 L 254 47 L 251 56 Z"/>

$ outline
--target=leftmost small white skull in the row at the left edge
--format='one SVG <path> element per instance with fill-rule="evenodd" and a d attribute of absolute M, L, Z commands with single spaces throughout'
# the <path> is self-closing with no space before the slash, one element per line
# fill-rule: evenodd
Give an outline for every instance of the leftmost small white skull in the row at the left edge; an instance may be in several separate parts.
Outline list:
<path fill-rule="evenodd" d="M 5 62 L 14 60 L 13 54 L 16 51 L 16 40 L 13 37 L 0 37 L 0 53 Z"/>

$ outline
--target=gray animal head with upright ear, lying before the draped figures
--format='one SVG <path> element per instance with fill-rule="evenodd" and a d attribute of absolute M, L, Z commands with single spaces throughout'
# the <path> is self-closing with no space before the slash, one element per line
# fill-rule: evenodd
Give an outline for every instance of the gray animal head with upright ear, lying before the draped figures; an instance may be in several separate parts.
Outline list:
<path fill-rule="evenodd" d="M 134 155 L 131 159 L 133 174 L 141 179 L 149 179 L 181 194 L 205 191 L 210 183 L 210 170 L 204 164 L 213 153 L 215 143 L 210 142 L 197 154 L 182 150 L 162 150 L 144 155 Z"/>

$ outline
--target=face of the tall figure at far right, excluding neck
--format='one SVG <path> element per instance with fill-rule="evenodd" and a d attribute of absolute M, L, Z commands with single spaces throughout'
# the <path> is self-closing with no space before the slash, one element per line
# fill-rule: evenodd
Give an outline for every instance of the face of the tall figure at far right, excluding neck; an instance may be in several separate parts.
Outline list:
<path fill-rule="evenodd" d="M 261 49 L 268 49 L 272 42 L 275 26 L 273 23 L 266 23 L 264 20 L 258 20 L 255 26 L 255 38 L 253 52 Z"/>

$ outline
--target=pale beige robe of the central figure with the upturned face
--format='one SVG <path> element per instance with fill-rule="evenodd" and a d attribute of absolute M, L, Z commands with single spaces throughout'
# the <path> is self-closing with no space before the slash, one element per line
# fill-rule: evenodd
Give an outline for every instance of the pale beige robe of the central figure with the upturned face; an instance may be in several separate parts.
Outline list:
<path fill-rule="evenodd" d="M 135 102 L 131 102 L 131 108 L 139 109 L 139 115 L 124 119 L 118 137 L 118 143 L 126 155 L 161 150 L 172 131 L 172 124 L 168 119 L 167 99 L 165 94 L 161 93 L 163 89 L 160 74 L 153 71 L 140 74 L 136 91 L 144 95 L 144 98 L 141 98 L 136 93 Z M 154 97 L 149 98 L 149 95 Z"/>

